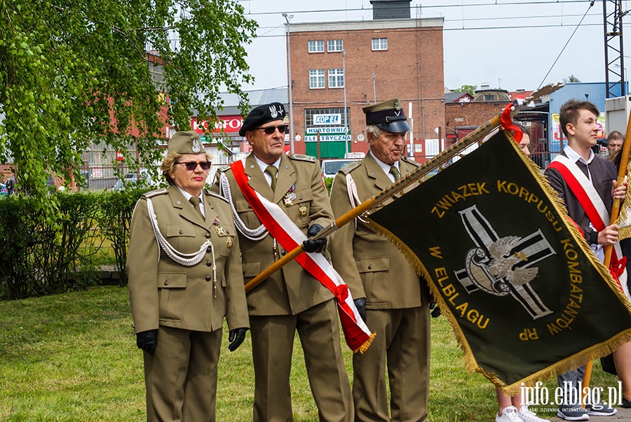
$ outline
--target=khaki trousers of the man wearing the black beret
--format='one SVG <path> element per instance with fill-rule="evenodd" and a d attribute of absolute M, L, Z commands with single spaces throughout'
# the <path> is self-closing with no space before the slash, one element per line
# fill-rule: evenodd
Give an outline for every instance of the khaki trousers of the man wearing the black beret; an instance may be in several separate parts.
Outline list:
<path fill-rule="evenodd" d="M 255 422 L 293 421 L 290 370 L 298 332 L 320 421 L 353 421 L 353 398 L 339 342 L 334 300 L 297 315 L 250 316 Z"/>

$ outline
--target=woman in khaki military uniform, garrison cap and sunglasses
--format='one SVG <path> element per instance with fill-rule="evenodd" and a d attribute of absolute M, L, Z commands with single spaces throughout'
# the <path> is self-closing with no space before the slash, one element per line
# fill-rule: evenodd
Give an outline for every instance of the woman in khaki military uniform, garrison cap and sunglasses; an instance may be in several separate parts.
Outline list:
<path fill-rule="evenodd" d="M 147 421 L 215 421 L 223 318 L 231 351 L 249 328 L 231 209 L 203 190 L 209 158 L 196 132 L 175 134 L 161 165 L 169 188 L 143 195 L 130 226 L 129 295 Z"/>

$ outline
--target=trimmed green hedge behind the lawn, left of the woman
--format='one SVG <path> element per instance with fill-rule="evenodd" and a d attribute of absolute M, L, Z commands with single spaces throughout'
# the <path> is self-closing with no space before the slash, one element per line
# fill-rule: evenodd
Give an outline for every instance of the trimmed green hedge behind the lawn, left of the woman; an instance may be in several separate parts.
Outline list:
<path fill-rule="evenodd" d="M 95 285 L 101 274 L 95 260 L 104 239 L 114 248 L 124 286 L 129 223 L 137 199 L 147 190 L 56 192 L 55 220 L 41 215 L 29 197 L 1 197 L 0 300 Z"/>

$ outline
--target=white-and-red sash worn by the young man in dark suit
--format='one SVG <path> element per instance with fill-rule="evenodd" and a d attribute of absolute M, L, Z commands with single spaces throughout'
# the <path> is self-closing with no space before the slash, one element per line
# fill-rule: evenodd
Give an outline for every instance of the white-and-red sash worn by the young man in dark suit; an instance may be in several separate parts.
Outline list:
<path fill-rule="evenodd" d="M 585 176 L 583 171 L 578 168 L 575 162 L 572 162 L 565 155 L 557 155 L 550 163 L 550 168 L 556 169 L 563 176 L 567 185 L 583 206 L 585 213 L 590 219 L 592 225 L 597 231 L 602 231 L 609 225 L 609 211 L 607 211 L 602 198 L 596 192 L 594 185 L 590 179 Z M 627 270 L 625 267 L 626 260 L 623 260 L 623 253 L 620 244 L 616 242 L 613 245 L 611 253 L 611 265 L 609 271 L 614 275 L 614 279 L 618 281 L 620 288 L 629 297 L 629 288 L 627 287 Z"/>

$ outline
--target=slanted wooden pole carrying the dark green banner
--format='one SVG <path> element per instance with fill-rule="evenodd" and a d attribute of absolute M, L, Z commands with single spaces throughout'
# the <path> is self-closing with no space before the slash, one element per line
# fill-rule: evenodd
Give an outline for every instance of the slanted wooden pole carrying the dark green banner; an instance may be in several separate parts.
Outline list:
<path fill-rule="evenodd" d="M 535 99 L 541 98 L 544 95 L 548 95 L 552 92 L 555 92 L 556 90 L 559 90 L 561 87 L 563 87 L 562 83 L 545 85 L 545 87 L 542 87 L 541 89 L 536 90 L 535 92 L 531 94 L 530 97 L 527 97 L 526 99 L 524 99 L 523 105 L 525 106 L 526 104 L 530 103 L 531 101 L 534 101 Z M 517 114 L 517 111 L 518 111 L 518 108 L 513 108 L 513 111 L 511 112 L 511 116 Z M 449 159 L 461 153 L 463 150 L 468 148 L 468 146 L 473 145 L 473 143 L 482 140 L 484 136 L 487 136 L 488 134 L 493 132 L 493 130 L 500 127 L 500 125 L 501 125 L 501 113 L 496 115 L 494 118 L 491 118 L 491 120 L 484 123 L 484 125 L 475 129 L 475 131 L 466 135 L 459 142 L 454 143 L 454 145 L 442 151 L 442 153 L 436 155 L 432 160 L 426 162 L 425 164 L 422 164 L 420 167 L 417 167 L 416 169 L 414 169 L 414 171 L 407 174 L 405 177 L 400 178 L 398 181 L 388 186 L 388 188 L 382 190 L 381 192 L 367 199 L 365 202 L 362 202 L 358 206 L 355 206 L 355 208 L 351 209 L 351 211 L 348 211 L 347 213 L 345 213 L 344 216 L 340 216 L 339 218 L 337 218 L 337 220 L 331 223 L 330 226 L 325 227 L 323 230 L 320 230 L 320 232 L 316 234 L 313 237 L 313 239 L 322 239 L 323 237 L 327 237 L 329 234 L 339 229 L 339 227 L 342 227 L 346 223 L 350 223 L 351 221 L 355 220 L 355 218 L 362 215 L 362 213 L 365 213 L 366 211 L 373 209 L 375 206 L 381 204 L 381 202 L 384 202 L 386 199 L 393 197 L 393 195 L 395 195 L 397 192 L 400 192 L 401 190 L 404 190 L 405 188 L 407 188 L 409 185 L 412 185 L 412 183 L 415 183 L 415 182 L 421 183 L 421 180 L 420 180 L 421 177 L 426 176 L 430 171 L 437 169 L 438 167 L 441 167 Z M 254 279 L 248 281 L 245 284 L 245 293 L 250 293 L 250 291 L 253 288 L 259 286 L 259 284 L 262 283 L 267 278 L 269 278 L 271 274 L 277 272 L 278 269 L 287 265 L 288 262 L 294 260 L 302 252 L 303 252 L 302 246 L 298 246 L 293 251 L 288 251 L 287 254 L 283 256 L 283 258 L 280 258 L 278 261 L 274 262 L 270 267 L 264 269 L 263 272 L 257 275 Z"/>

